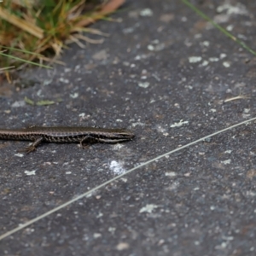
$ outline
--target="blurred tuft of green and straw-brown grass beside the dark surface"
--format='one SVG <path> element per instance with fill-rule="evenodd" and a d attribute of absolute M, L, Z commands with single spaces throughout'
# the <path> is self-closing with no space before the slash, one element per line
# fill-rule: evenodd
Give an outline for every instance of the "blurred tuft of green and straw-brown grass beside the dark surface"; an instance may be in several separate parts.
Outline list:
<path fill-rule="evenodd" d="M 106 36 L 84 26 L 104 18 L 125 0 L 4 0 L 0 1 L 0 73 L 21 64 L 56 62 L 67 44 L 101 44 L 83 32 Z M 2 68 L 1 68 L 2 67 Z"/>

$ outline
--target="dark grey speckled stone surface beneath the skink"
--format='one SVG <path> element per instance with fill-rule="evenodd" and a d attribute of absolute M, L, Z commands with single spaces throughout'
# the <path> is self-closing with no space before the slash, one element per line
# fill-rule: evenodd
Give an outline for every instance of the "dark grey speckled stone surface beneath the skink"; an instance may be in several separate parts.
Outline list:
<path fill-rule="evenodd" d="M 194 1 L 255 49 L 253 1 Z M 255 115 L 256 59 L 178 0 L 128 1 L 103 44 L 0 86 L 0 127 L 125 127 L 119 145 L 0 142 L 0 235 Z M 98 38 L 90 36 L 91 38 Z M 26 86 L 30 84 L 32 86 Z M 25 87 L 25 88 L 23 88 Z M 230 102 L 226 99 L 248 96 Z M 49 106 L 24 102 L 52 100 Z M 59 101 L 61 99 L 61 101 Z M 181 121 L 182 120 L 182 121 Z M 1 255 L 256 255 L 256 132 L 241 125 L 119 178 L 0 241 Z"/>

